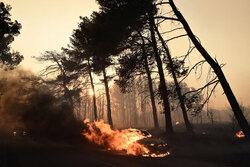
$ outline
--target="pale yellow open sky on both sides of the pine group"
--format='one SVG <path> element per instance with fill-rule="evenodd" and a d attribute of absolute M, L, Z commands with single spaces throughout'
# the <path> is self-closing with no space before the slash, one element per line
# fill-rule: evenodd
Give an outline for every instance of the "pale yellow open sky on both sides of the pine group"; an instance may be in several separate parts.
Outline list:
<path fill-rule="evenodd" d="M 79 16 L 98 10 L 95 0 L 3 0 L 12 6 L 12 18 L 22 24 L 13 48 L 25 60 L 22 65 L 34 72 L 40 65 L 31 59 L 46 50 L 59 50 L 69 43 Z M 220 63 L 240 103 L 250 105 L 250 0 L 175 0 L 177 7 Z M 180 47 L 180 46 L 179 46 Z M 225 107 L 217 91 L 213 105 Z"/>

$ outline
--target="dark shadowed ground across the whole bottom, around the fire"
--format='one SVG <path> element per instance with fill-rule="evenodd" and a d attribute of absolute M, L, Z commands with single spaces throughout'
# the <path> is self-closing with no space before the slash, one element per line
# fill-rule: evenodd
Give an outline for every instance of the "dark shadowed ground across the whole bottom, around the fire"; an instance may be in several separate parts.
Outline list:
<path fill-rule="evenodd" d="M 124 156 L 107 152 L 76 141 L 70 144 L 32 140 L 28 137 L 0 138 L 2 167 L 249 167 L 250 143 L 244 139 L 212 134 L 187 135 L 178 133 L 165 139 L 157 132 L 155 138 L 168 140 L 171 154 L 163 158 Z"/>

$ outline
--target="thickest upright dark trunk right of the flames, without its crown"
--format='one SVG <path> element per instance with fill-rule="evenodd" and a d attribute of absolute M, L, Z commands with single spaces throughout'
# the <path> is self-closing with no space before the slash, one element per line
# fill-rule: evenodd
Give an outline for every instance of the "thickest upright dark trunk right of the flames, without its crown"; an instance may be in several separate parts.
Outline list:
<path fill-rule="evenodd" d="M 151 40 L 152 40 L 152 46 L 154 50 L 155 60 L 157 63 L 158 73 L 160 76 L 160 93 L 163 100 L 163 106 L 164 106 L 164 114 L 165 114 L 165 121 L 166 121 L 166 133 L 172 134 L 173 133 L 173 125 L 171 120 L 171 113 L 170 113 L 170 104 L 168 100 L 168 92 L 167 92 L 167 85 L 165 81 L 164 71 L 162 68 L 162 61 L 161 57 L 158 53 L 157 43 L 155 39 L 155 32 L 154 32 L 154 20 L 153 15 L 151 12 L 149 14 L 149 25 L 150 25 L 150 32 L 151 32 Z"/>

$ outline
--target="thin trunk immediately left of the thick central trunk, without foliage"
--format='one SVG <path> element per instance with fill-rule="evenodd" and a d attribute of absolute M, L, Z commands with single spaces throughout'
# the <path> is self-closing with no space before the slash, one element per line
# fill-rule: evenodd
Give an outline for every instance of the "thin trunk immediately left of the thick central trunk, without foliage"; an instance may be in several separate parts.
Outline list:
<path fill-rule="evenodd" d="M 150 99 L 151 99 L 151 106 L 152 106 L 152 110 L 153 110 L 153 118 L 154 118 L 154 127 L 156 129 L 159 129 L 159 122 L 158 122 L 158 117 L 157 117 L 157 109 L 156 109 L 156 105 L 155 105 L 155 96 L 154 96 L 154 89 L 153 89 L 153 83 L 152 83 L 152 78 L 151 78 L 151 72 L 149 70 L 148 67 L 148 58 L 146 55 L 146 51 L 145 51 L 145 41 L 142 38 L 142 53 L 143 53 L 143 58 L 144 58 L 144 67 L 146 69 L 146 73 L 147 73 L 147 77 L 148 77 L 148 87 L 149 87 L 149 93 L 150 93 Z"/>

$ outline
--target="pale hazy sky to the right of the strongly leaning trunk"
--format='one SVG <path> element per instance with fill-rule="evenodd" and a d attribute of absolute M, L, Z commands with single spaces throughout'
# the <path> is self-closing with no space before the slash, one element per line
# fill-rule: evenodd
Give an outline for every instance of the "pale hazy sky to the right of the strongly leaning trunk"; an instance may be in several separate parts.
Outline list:
<path fill-rule="evenodd" d="M 239 103 L 250 105 L 250 1 L 176 0 L 193 32 L 220 63 Z M 219 86 L 220 87 L 220 86 Z M 213 104 L 228 105 L 223 92 Z"/>

